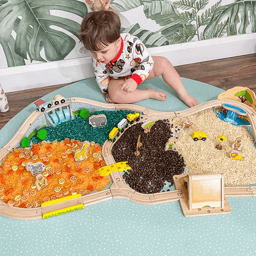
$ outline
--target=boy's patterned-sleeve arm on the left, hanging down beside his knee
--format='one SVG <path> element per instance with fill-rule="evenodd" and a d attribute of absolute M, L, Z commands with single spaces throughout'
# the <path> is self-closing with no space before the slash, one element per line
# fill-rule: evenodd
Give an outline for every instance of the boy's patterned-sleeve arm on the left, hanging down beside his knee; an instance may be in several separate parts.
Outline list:
<path fill-rule="evenodd" d="M 92 58 L 92 63 L 97 84 L 99 85 L 100 90 L 106 95 L 108 93 L 108 84 L 110 81 L 109 75 L 103 72 L 105 69 L 100 65 L 99 61 Z"/>

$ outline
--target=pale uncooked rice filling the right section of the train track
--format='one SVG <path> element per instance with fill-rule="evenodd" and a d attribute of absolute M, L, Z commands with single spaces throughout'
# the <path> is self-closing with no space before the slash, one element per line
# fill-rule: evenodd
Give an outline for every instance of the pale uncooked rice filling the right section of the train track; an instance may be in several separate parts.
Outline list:
<path fill-rule="evenodd" d="M 183 121 L 193 121 L 188 130 L 182 129 Z M 207 109 L 187 117 L 177 117 L 170 124 L 178 126 L 178 139 L 175 139 L 176 149 L 185 159 L 189 173 L 223 173 L 226 186 L 246 186 L 256 183 L 256 149 L 253 138 L 242 126 L 234 126 L 221 121 L 213 109 Z M 171 128 L 172 131 L 177 130 Z M 194 131 L 207 134 L 205 141 L 194 141 Z M 224 135 L 222 150 L 215 148 L 219 144 L 218 137 Z M 237 137 L 242 138 L 244 155 L 241 161 L 233 160 L 229 154 Z"/>

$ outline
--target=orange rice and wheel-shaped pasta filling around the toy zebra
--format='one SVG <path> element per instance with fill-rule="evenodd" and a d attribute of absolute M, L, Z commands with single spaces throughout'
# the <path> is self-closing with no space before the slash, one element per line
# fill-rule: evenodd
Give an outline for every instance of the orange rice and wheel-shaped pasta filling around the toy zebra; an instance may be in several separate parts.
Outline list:
<path fill-rule="evenodd" d="M 101 156 L 98 153 L 101 147 L 97 145 L 97 153 L 95 153 L 93 143 L 90 145 L 92 152 L 87 155 L 91 161 L 75 162 L 74 151 L 71 153 L 70 150 L 74 147 L 79 149 L 81 145 L 80 141 L 66 138 L 63 142 L 47 143 L 43 141 L 33 144 L 32 149 L 17 148 L 13 150 L 9 157 L 3 158 L 0 165 L 0 186 L 3 188 L 0 198 L 4 202 L 10 202 L 10 207 L 13 205 L 26 208 L 37 207 L 41 205 L 41 202 L 69 196 L 71 193 L 80 192 L 82 195 L 88 195 L 93 190 L 104 189 L 110 180 L 107 176 L 95 176 L 95 158 L 92 156 L 93 154 L 97 154 L 97 157 Z M 32 158 L 35 155 L 38 158 Z M 67 155 L 67 157 L 62 158 L 63 155 Z M 44 161 L 46 156 L 48 159 Z M 46 165 L 48 175 L 45 178 L 48 186 L 44 189 L 39 191 L 36 189 L 35 177 L 25 169 L 28 162 L 43 162 Z M 99 164 L 102 166 L 104 162 L 99 161 L 97 166 Z M 15 171 L 12 170 L 12 167 Z M 59 187 L 58 191 L 53 194 L 56 187 Z"/>

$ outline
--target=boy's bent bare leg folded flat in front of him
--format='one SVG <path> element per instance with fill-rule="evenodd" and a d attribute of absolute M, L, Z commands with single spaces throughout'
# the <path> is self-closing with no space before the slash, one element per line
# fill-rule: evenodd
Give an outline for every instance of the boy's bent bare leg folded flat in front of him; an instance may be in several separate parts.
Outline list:
<path fill-rule="evenodd" d="M 167 95 L 161 91 L 155 91 L 152 88 L 146 90 L 136 89 L 133 92 L 125 92 L 121 90 L 124 80 L 111 79 L 108 85 L 109 98 L 108 102 L 115 103 L 135 103 L 146 99 L 166 100 Z"/>

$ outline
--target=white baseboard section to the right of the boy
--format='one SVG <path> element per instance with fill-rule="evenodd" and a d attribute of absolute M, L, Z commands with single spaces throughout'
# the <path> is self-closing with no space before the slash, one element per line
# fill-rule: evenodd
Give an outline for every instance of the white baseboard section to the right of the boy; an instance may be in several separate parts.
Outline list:
<path fill-rule="evenodd" d="M 152 55 L 163 56 L 169 59 L 173 66 L 180 66 L 256 53 L 256 33 L 160 46 L 151 49 L 149 50 Z"/>

